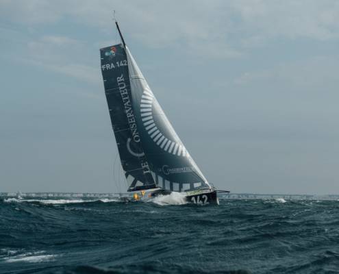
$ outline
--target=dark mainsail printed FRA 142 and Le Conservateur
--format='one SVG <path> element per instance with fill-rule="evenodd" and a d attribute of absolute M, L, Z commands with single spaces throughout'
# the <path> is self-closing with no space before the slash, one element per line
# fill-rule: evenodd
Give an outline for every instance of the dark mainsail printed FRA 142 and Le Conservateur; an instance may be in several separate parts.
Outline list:
<path fill-rule="evenodd" d="M 155 188 L 132 105 L 128 62 L 122 44 L 100 49 L 110 119 L 129 191 Z"/>

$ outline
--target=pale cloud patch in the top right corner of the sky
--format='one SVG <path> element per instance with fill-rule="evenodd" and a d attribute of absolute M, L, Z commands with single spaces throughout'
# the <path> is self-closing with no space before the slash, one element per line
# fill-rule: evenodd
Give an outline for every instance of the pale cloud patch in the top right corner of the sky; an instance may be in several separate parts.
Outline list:
<path fill-rule="evenodd" d="M 338 38 L 337 1 L 232 1 L 242 25 L 256 37 Z"/>

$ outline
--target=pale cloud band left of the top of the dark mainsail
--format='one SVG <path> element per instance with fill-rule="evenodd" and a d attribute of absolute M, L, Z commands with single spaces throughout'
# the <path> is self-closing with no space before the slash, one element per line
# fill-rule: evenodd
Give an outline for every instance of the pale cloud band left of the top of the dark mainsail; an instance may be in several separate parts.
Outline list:
<path fill-rule="evenodd" d="M 0 35 L 3 37 L 0 58 L 40 66 L 90 84 L 100 82 L 99 52 L 92 51 L 88 42 L 58 35 L 35 37 L 3 27 Z"/>

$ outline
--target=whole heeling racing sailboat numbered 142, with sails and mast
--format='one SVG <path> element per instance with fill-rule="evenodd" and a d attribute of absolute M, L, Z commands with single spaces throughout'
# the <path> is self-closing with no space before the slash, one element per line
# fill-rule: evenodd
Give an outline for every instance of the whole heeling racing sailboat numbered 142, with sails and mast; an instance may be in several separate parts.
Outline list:
<path fill-rule="evenodd" d="M 181 142 L 127 47 L 100 49 L 110 119 L 130 201 L 181 192 L 186 201 L 218 203 L 208 182 Z"/>

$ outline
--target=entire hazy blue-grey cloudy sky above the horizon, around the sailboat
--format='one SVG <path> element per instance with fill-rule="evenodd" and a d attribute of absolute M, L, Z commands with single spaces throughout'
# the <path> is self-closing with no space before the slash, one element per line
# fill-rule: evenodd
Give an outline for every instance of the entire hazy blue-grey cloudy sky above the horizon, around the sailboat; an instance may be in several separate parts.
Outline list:
<path fill-rule="evenodd" d="M 339 194 L 338 1 L 0 0 L 0 192 L 124 188 L 99 49 L 120 42 L 208 181 Z"/>

